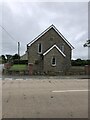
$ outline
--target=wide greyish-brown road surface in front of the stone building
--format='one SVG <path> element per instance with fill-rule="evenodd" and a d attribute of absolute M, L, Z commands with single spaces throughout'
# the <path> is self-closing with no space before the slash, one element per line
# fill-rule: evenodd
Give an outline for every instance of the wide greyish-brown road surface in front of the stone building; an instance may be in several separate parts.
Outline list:
<path fill-rule="evenodd" d="M 2 81 L 3 118 L 87 118 L 88 79 Z"/>

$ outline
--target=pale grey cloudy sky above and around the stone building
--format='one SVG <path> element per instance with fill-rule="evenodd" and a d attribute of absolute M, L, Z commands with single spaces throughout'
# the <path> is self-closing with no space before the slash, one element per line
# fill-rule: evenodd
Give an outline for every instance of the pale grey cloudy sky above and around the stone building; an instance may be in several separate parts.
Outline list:
<path fill-rule="evenodd" d="M 74 46 L 72 59 L 88 58 L 83 47 L 88 39 L 88 2 L 2 2 L 0 8 L 0 55 L 17 53 L 18 41 L 24 54 L 27 44 L 54 24 Z"/>

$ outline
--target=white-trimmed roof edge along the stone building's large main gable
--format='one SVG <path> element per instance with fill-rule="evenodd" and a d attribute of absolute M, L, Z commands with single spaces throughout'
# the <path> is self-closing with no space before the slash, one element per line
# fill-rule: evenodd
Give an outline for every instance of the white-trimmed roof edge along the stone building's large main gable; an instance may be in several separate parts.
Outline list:
<path fill-rule="evenodd" d="M 59 34 L 59 36 L 71 47 L 71 49 L 74 49 L 74 47 L 67 41 L 67 39 L 59 32 L 59 30 L 53 24 L 50 27 L 48 27 L 45 31 L 43 31 L 39 36 L 37 36 L 34 40 L 28 43 L 27 46 L 31 46 L 35 41 L 42 37 L 51 28 L 53 28 Z"/>

